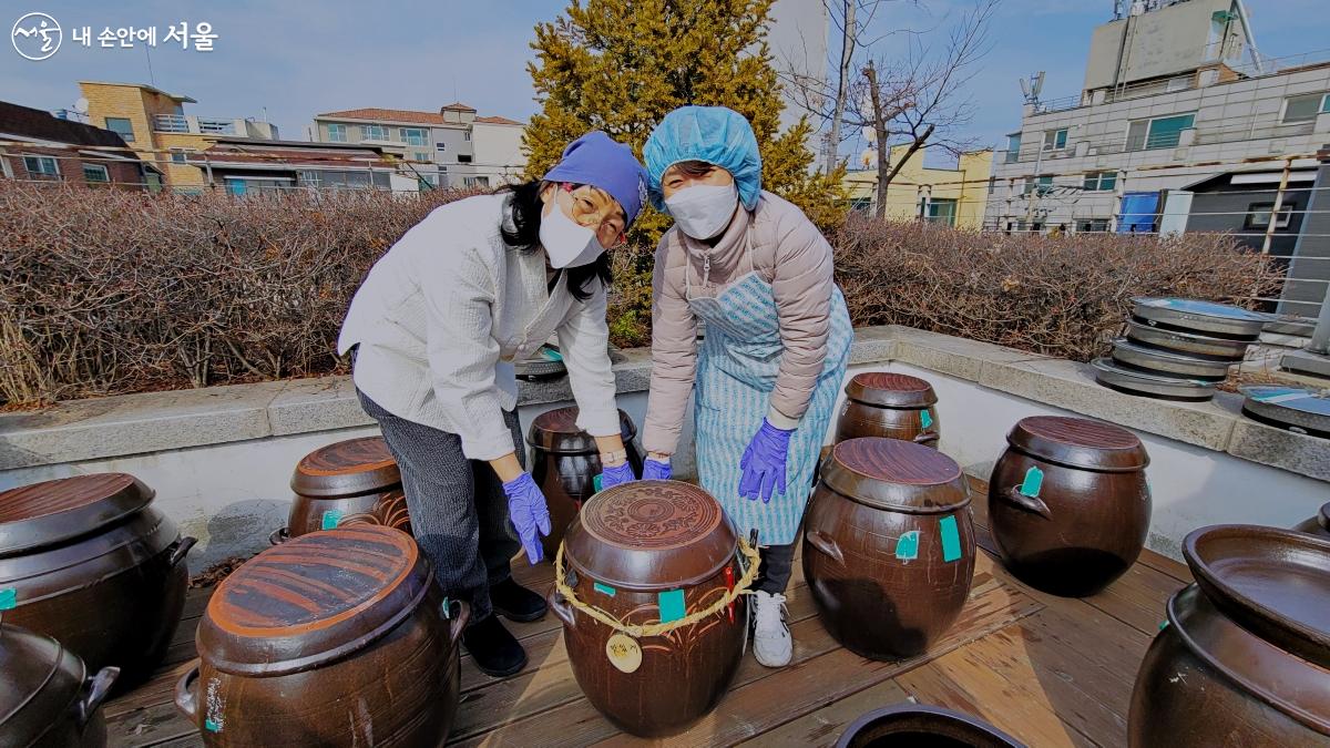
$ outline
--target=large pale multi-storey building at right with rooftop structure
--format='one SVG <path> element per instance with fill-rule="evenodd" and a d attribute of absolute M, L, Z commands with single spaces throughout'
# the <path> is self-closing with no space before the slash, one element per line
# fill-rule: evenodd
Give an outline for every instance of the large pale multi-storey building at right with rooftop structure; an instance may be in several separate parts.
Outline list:
<path fill-rule="evenodd" d="M 1093 31 L 1079 94 L 1027 97 L 986 228 L 1154 232 L 1170 190 L 1330 141 L 1330 60 L 1264 57 L 1240 0 L 1132 5 Z"/>

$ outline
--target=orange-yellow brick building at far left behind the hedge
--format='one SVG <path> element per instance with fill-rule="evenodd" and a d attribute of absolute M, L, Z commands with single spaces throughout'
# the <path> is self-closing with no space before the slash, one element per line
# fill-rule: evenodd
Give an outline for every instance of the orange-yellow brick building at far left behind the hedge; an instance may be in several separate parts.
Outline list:
<path fill-rule="evenodd" d="M 152 85 L 78 81 L 88 101 L 88 121 L 118 134 L 142 161 L 152 164 L 149 189 L 203 189 L 205 174 L 190 157 L 218 137 L 277 140 L 277 125 L 253 117 L 200 117 L 185 113 L 194 98 Z M 164 182 L 164 184 L 162 184 Z"/>

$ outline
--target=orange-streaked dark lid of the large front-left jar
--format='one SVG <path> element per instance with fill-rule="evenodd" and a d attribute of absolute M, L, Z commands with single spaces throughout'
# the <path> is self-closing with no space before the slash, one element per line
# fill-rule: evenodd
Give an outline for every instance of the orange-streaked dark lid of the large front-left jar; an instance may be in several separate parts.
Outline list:
<path fill-rule="evenodd" d="M 200 623 L 200 656 L 235 673 L 305 669 L 391 631 L 431 580 L 415 540 L 391 527 L 291 538 L 217 587 Z"/>

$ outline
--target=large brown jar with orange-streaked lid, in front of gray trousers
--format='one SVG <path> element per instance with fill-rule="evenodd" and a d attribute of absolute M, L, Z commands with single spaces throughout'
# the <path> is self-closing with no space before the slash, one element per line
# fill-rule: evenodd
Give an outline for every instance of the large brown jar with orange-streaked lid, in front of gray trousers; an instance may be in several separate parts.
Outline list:
<path fill-rule="evenodd" d="M 442 745 L 466 619 L 410 535 L 301 535 L 218 584 L 176 705 L 205 745 Z"/>

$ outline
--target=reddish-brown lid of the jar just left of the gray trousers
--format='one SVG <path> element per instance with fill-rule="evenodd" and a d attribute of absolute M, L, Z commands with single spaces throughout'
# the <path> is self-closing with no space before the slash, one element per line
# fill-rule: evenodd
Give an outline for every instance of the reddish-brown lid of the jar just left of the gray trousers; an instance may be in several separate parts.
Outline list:
<path fill-rule="evenodd" d="M 402 483 L 383 437 L 360 437 L 305 455 L 291 475 L 291 490 L 302 496 L 327 499 L 374 494 Z"/>

